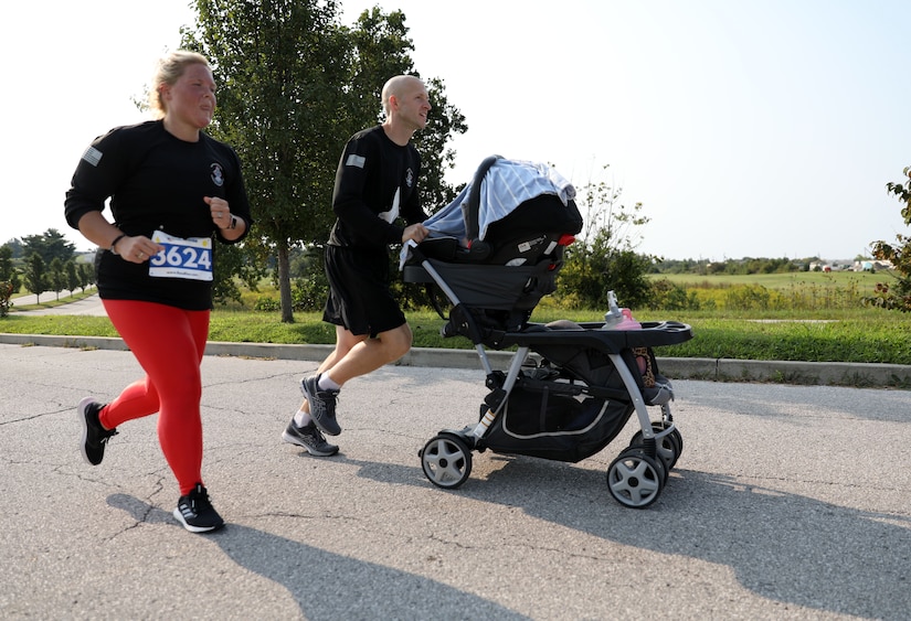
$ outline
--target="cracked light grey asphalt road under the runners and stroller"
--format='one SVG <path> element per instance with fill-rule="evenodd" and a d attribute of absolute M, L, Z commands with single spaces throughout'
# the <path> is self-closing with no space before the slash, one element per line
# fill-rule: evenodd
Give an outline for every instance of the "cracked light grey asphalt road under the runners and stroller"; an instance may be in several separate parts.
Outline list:
<path fill-rule="evenodd" d="M 206 356 L 204 477 L 227 527 L 192 535 L 155 419 L 102 465 L 74 406 L 130 354 L 0 344 L 3 619 L 908 619 L 911 394 L 676 382 L 684 454 L 659 500 L 605 471 L 475 453 L 457 491 L 419 449 L 474 419 L 476 370 L 384 367 L 346 386 L 335 458 L 279 436 L 316 363 Z"/>

